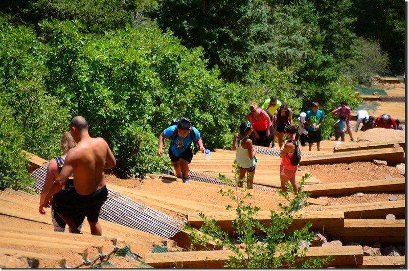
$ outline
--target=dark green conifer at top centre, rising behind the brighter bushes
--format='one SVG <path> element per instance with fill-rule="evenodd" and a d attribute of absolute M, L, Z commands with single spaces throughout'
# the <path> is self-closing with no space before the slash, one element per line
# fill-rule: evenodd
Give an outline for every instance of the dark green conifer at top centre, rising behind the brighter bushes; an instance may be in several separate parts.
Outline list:
<path fill-rule="evenodd" d="M 160 0 L 150 15 L 186 47 L 202 47 L 209 67 L 217 65 L 229 82 L 245 81 L 248 71 L 268 58 L 270 28 L 261 0 Z"/>

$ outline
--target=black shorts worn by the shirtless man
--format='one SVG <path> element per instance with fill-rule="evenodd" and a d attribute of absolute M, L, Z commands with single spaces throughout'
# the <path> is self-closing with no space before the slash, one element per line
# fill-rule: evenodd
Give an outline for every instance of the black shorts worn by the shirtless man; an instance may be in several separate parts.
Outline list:
<path fill-rule="evenodd" d="M 89 222 L 98 222 L 99 212 L 108 197 L 106 186 L 83 196 L 75 188 L 64 189 L 53 196 L 54 211 L 66 217 L 86 216 Z"/>

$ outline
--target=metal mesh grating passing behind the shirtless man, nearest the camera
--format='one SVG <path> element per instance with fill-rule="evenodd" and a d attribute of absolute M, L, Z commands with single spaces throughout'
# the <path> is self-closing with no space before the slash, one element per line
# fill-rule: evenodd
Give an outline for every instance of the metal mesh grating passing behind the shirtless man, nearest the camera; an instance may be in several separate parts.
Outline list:
<path fill-rule="evenodd" d="M 36 180 L 34 189 L 38 194 L 41 193 L 46 180 L 47 166 L 48 164 L 30 174 Z M 108 198 L 102 205 L 100 218 L 164 238 L 170 238 L 180 232 L 186 223 L 111 189 L 108 189 Z"/>

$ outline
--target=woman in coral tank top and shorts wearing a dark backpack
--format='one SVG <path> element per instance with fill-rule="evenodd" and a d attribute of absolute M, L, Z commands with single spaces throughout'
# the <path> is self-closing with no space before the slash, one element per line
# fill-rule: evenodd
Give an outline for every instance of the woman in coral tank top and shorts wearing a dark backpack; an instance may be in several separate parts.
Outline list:
<path fill-rule="evenodd" d="M 281 190 L 287 191 L 285 184 L 289 181 L 292 185 L 292 191 L 294 194 L 298 193 L 296 183 L 297 165 L 300 162 L 301 151 L 296 141 L 297 128 L 293 125 L 287 125 L 284 127 L 284 134 L 288 137 L 288 140 L 284 142 L 280 149 L 280 181 Z"/>

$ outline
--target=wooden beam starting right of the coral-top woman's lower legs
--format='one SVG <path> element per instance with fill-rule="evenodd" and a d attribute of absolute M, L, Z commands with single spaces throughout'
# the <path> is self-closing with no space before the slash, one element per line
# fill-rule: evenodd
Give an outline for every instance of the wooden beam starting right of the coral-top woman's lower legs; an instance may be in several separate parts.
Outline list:
<path fill-rule="evenodd" d="M 405 178 L 362 180 L 360 182 L 315 184 L 303 187 L 310 196 L 344 195 L 355 192 L 405 191 Z"/>

